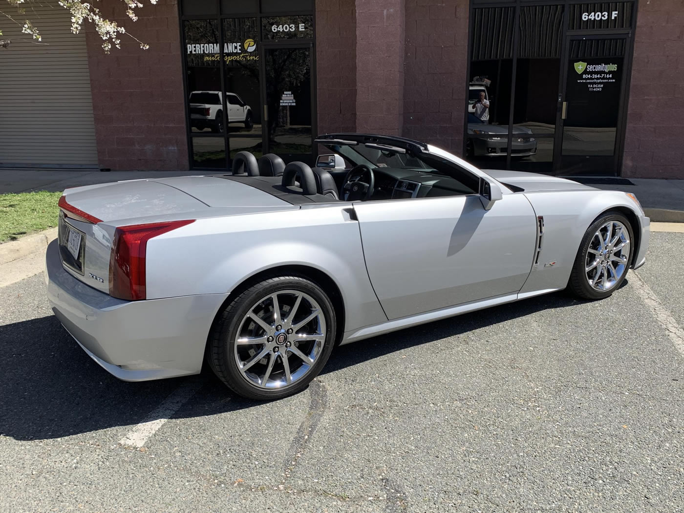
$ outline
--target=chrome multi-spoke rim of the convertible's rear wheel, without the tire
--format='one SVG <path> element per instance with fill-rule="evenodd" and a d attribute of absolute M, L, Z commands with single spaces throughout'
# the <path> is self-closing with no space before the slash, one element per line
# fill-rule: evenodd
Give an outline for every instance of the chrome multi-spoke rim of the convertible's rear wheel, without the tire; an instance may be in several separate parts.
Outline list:
<path fill-rule="evenodd" d="M 279 389 L 306 376 L 321 356 L 326 319 L 319 304 L 301 291 L 283 290 L 255 303 L 235 338 L 241 376 L 262 389 Z"/>

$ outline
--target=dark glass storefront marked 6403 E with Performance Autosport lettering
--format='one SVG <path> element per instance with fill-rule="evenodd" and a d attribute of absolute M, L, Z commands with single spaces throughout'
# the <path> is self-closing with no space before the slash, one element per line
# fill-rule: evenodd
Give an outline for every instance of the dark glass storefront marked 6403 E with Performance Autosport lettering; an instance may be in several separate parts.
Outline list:
<path fill-rule="evenodd" d="M 241 150 L 312 163 L 313 6 L 181 1 L 193 167 L 224 168 Z"/>

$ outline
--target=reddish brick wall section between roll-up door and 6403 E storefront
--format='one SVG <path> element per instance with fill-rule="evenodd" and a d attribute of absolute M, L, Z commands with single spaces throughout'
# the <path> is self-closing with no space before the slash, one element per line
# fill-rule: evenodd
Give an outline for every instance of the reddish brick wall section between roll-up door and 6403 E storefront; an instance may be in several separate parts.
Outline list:
<path fill-rule="evenodd" d="M 138 39 L 121 36 L 109 55 L 86 33 L 98 161 L 112 170 L 187 170 L 183 71 L 176 0 L 136 9 L 133 23 L 119 0 L 98 7 Z"/>

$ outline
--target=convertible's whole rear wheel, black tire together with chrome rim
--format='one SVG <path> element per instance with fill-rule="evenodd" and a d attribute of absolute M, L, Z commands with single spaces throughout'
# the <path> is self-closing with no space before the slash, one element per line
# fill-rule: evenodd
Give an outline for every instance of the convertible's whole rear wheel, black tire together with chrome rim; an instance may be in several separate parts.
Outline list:
<path fill-rule="evenodd" d="M 274 316 L 274 296 L 279 317 Z M 287 397 L 306 389 L 326 365 L 336 320 L 330 298 L 315 282 L 295 275 L 267 278 L 239 293 L 219 313 L 209 334 L 207 363 L 243 397 Z"/>

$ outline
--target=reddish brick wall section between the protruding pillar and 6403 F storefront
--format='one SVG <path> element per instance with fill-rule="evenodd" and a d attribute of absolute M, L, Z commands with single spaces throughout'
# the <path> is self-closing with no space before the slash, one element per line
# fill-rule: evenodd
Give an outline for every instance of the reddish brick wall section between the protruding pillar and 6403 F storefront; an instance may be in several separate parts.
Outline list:
<path fill-rule="evenodd" d="M 468 0 L 406 0 L 403 134 L 457 155 L 463 148 L 468 14 Z"/>

